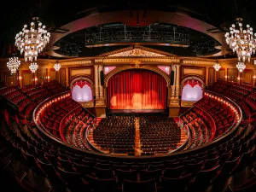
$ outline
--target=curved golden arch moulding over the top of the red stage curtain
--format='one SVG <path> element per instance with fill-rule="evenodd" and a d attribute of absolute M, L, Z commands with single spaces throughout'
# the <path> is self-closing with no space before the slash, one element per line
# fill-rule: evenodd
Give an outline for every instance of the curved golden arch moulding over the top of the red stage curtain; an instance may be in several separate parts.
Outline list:
<path fill-rule="evenodd" d="M 130 66 L 128 67 L 116 67 L 115 69 L 113 69 L 113 71 L 109 72 L 105 79 L 104 79 L 104 85 L 105 87 L 108 87 L 108 80 L 116 73 L 125 71 L 125 70 L 131 70 L 131 69 L 137 69 L 137 68 L 131 68 Z M 170 76 L 163 72 L 162 70 L 160 70 L 158 67 L 141 67 L 138 69 L 143 69 L 143 70 L 149 70 L 149 71 L 153 71 L 154 73 L 159 73 L 164 79 L 166 79 L 166 86 L 169 87 L 170 84 Z"/>

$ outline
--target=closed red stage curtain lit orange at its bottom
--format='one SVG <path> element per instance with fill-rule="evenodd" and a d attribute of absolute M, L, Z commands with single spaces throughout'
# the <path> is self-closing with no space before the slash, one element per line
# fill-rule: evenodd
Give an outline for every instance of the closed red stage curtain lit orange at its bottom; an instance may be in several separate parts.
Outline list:
<path fill-rule="evenodd" d="M 108 80 L 110 109 L 165 109 L 166 95 L 166 79 L 148 70 L 126 70 Z"/>

